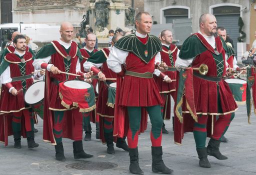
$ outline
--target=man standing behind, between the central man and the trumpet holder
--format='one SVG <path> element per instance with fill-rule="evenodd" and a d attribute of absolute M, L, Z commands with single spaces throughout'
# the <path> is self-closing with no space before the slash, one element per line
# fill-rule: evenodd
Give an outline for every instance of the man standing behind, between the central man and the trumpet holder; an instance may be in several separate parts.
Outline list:
<path fill-rule="evenodd" d="M 176 45 L 171 44 L 172 42 L 172 32 L 170 30 L 162 30 L 160 33 L 162 50 L 160 51 L 161 60 L 167 64 L 167 66 L 175 66 L 176 55 L 179 50 Z M 171 79 L 176 79 L 176 71 L 166 71 L 163 73 L 164 76 L 167 75 Z M 176 101 L 175 90 L 176 81 L 167 83 L 162 81 L 162 78 L 154 75 L 155 83 L 159 89 L 162 97 L 163 104 L 161 104 L 161 114 L 163 119 L 170 119 L 170 95 L 172 96 L 174 102 Z M 175 108 L 175 105 L 174 105 Z M 172 122 L 174 122 L 172 120 Z M 162 133 L 168 133 L 165 129 L 164 122 L 162 123 Z"/>

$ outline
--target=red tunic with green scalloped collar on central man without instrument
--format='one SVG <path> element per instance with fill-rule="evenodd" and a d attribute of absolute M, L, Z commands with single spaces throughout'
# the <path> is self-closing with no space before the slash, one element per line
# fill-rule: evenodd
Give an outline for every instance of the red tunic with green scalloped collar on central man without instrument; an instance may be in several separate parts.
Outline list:
<path fill-rule="evenodd" d="M 122 107 L 154 106 L 162 103 L 152 75 L 155 71 L 155 62 L 160 62 L 160 50 L 161 43 L 153 35 L 142 38 L 129 34 L 120 38 L 113 46 L 107 59 L 108 67 L 120 74 L 123 71 L 121 64 L 125 66 L 123 79 L 117 76 L 114 135 L 123 137 L 127 133 L 128 122 Z M 157 61 L 156 55 L 159 59 Z M 144 131 L 145 128 L 146 117 L 142 114 L 140 131 Z"/>

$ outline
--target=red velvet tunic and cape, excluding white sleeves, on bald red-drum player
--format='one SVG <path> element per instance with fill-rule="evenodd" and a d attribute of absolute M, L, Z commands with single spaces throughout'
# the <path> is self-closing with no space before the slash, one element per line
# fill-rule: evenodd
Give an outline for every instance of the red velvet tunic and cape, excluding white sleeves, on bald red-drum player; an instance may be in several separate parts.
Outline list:
<path fill-rule="evenodd" d="M 67 53 L 64 47 L 58 41 L 52 41 L 51 44 L 45 45 L 42 47 L 36 54 L 36 58 L 44 58 L 48 55 L 51 56 L 50 63 L 58 67 L 60 71 L 76 73 L 76 64 L 78 59 L 78 53 L 80 54 L 77 43 L 71 43 L 71 46 L 68 48 L 69 52 Z M 50 50 L 50 51 L 47 51 Z M 67 55 L 70 56 L 70 65 L 69 69 L 65 69 L 65 63 L 67 61 Z M 77 137 L 82 138 L 82 126 L 75 125 L 75 123 L 82 123 L 82 115 L 79 112 L 79 108 L 72 109 L 73 106 L 70 105 L 69 109 L 61 105 L 61 99 L 59 97 L 59 86 L 58 82 L 65 80 L 75 79 L 73 75 L 66 74 L 53 74 L 49 71 L 46 71 L 45 76 L 45 89 L 44 89 L 44 113 L 43 113 L 43 140 L 47 142 L 55 143 L 53 135 L 53 124 L 54 124 L 54 115 L 53 110 L 56 111 L 65 111 L 62 125 L 63 125 L 63 135 L 62 137 L 70 138 L 77 140 Z M 72 110 L 70 110 L 72 109 Z M 75 122 L 76 121 L 76 122 Z M 79 133 L 77 128 L 80 127 Z"/>

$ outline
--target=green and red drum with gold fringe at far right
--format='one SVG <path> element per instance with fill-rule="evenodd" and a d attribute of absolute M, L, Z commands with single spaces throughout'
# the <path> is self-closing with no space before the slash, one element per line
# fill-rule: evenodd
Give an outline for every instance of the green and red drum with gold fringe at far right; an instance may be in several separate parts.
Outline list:
<path fill-rule="evenodd" d="M 237 104 L 245 104 L 246 101 L 246 81 L 243 79 L 225 79 L 232 91 Z"/>

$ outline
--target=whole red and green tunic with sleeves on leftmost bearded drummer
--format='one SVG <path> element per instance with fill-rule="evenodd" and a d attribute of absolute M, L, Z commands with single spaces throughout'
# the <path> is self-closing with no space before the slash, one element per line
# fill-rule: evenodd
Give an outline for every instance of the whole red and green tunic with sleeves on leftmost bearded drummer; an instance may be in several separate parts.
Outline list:
<path fill-rule="evenodd" d="M 13 50 L 14 52 L 14 50 Z M 0 66 L 0 75 L 9 68 L 11 85 L 19 91 L 17 95 L 12 95 L 6 85 L 1 85 L 0 98 L 0 142 L 8 143 L 8 135 L 12 135 L 12 112 L 18 112 L 30 106 L 25 104 L 24 92 L 33 83 L 31 72 L 34 71 L 32 65 L 33 56 L 30 52 L 19 56 L 15 53 L 7 53 Z M 3 79 L 2 79 L 3 80 Z M 9 84 L 8 83 L 8 84 Z M 22 116 L 22 121 L 23 121 Z M 24 121 L 23 121 L 24 122 Z M 25 124 L 21 124 L 21 134 L 25 137 Z"/>

